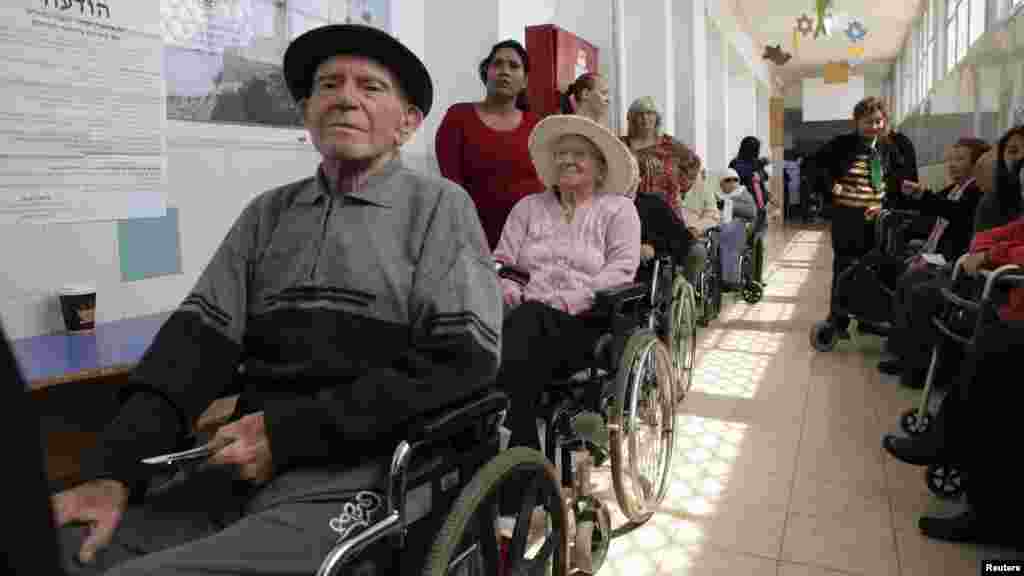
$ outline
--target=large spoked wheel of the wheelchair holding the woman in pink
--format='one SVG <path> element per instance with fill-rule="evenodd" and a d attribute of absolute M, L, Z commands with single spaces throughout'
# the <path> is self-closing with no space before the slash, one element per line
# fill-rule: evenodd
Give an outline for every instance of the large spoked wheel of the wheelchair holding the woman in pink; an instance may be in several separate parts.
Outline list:
<path fill-rule="evenodd" d="M 646 522 L 669 488 L 675 441 L 672 360 L 649 330 L 626 343 L 608 418 L 611 481 L 626 518 Z"/>

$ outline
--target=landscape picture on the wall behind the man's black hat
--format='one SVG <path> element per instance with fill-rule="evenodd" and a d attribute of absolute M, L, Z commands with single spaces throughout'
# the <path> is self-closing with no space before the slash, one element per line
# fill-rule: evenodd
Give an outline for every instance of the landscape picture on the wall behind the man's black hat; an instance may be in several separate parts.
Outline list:
<path fill-rule="evenodd" d="M 390 32 L 387 0 L 161 0 L 167 118 L 301 127 L 281 72 L 288 43 L 327 24 Z"/>

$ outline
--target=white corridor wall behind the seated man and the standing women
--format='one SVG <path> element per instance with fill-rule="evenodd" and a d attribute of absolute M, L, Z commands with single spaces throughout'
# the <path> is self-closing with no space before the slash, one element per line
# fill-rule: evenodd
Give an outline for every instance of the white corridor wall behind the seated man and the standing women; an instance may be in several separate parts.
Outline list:
<path fill-rule="evenodd" d="M 407 161 L 436 169 L 437 125 L 451 105 L 482 97 L 476 67 L 494 43 L 523 41 L 526 26 L 554 24 L 595 44 L 601 72 L 622 78 L 624 101 L 613 107 L 622 110 L 635 97 L 654 96 L 666 129 L 693 145 L 710 167 L 724 166 L 738 143 L 727 137 L 730 124 L 737 134 L 759 129 L 761 96 L 755 96 L 754 78 L 764 82 L 770 75 L 752 40 L 728 9 L 719 9 L 719 4 L 728 8 L 727 3 L 629 0 L 627 9 L 626 1 L 390 0 L 394 34 L 424 59 L 435 86 L 434 110 L 403 150 Z M 625 15 L 621 67 L 613 51 L 616 4 Z M 711 17 L 727 37 L 710 26 Z M 728 47 L 729 39 L 735 48 Z M 726 55 L 733 49 L 732 59 L 751 71 L 735 83 L 729 79 Z M 749 95 L 740 97 L 740 92 Z M 732 122 L 730 109 L 738 111 Z M 621 130 L 616 116 L 613 127 Z M 182 274 L 177 276 L 121 283 L 114 222 L 0 230 L 2 245 L 33 246 L 4 253 L 0 317 L 9 333 L 24 337 L 58 330 L 52 293 L 69 282 L 97 285 L 99 322 L 175 306 L 251 198 L 313 172 L 317 156 L 303 136 L 302 130 L 169 123 L 168 195 L 179 210 L 181 239 Z"/>

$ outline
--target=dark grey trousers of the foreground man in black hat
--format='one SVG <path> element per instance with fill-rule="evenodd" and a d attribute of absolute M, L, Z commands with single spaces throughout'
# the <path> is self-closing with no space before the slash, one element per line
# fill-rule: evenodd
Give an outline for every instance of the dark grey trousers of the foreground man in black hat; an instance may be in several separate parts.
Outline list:
<path fill-rule="evenodd" d="M 258 489 L 236 481 L 227 468 L 179 475 L 142 504 L 127 509 L 114 541 L 97 553 L 93 565 L 77 561 L 87 527 L 60 529 L 65 568 L 81 576 L 308 576 L 365 520 L 351 510 L 362 511 L 370 522 L 380 519 L 381 492 L 376 491 L 377 499 L 357 495 L 381 486 L 383 479 L 380 465 L 344 471 L 298 469 Z M 389 556 L 378 545 L 368 548 L 353 568 L 389 573 Z M 371 558 L 374 566 L 360 566 Z M 343 572 L 353 573 L 359 572 Z"/>

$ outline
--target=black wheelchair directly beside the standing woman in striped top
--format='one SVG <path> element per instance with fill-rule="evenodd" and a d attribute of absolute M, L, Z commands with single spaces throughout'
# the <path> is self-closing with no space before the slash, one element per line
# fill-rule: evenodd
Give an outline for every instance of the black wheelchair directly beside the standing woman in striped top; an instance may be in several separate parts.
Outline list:
<path fill-rule="evenodd" d="M 920 243 L 910 238 L 919 212 L 883 210 L 874 223 L 874 248 L 839 273 L 833 282 L 831 302 L 837 315 L 848 316 L 858 325 L 869 324 L 888 333 L 892 328 L 895 281 L 916 253 Z M 814 324 L 811 346 L 830 352 L 839 340 L 839 331 L 830 320 Z"/>

